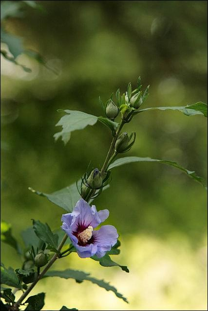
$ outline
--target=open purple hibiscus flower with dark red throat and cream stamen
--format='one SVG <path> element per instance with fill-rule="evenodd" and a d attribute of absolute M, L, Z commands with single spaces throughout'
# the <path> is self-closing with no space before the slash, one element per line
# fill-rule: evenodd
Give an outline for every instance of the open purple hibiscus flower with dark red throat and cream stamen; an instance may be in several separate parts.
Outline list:
<path fill-rule="evenodd" d="M 96 255 L 98 258 L 105 256 L 118 239 L 117 230 L 113 225 L 103 225 L 95 230 L 99 224 L 109 216 L 109 210 L 103 209 L 97 212 L 95 205 L 90 205 L 80 199 L 72 213 L 63 214 L 61 228 L 70 237 L 81 258 Z"/>

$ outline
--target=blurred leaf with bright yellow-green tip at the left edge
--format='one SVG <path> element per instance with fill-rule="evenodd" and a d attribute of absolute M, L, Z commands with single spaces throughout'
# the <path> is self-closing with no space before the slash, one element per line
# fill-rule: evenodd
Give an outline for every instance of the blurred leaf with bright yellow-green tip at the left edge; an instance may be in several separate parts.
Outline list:
<path fill-rule="evenodd" d="M 14 247 L 18 254 L 22 254 L 22 250 L 18 244 L 18 242 L 15 240 L 15 238 L 12 236 L 12 229 L 11 225 L 1 221 L 0 223 L 0 240 L 6 244 L 9 244 L 10 246 Z"/>

